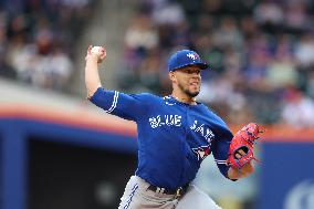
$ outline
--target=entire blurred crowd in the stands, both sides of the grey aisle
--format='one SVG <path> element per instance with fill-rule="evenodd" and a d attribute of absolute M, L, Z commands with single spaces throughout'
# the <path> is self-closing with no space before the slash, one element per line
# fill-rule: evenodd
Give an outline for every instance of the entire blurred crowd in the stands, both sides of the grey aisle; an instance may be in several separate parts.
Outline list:
<path fill-rule="evenodd" d="M 94 0 L 1 0 L 0 75 L 62 90 Z M 196 50 L 198 100 L 228 123 L 314 127 L 314 0 L 135 0 L 118 88 L 168 95 L 169 54 Z"/>

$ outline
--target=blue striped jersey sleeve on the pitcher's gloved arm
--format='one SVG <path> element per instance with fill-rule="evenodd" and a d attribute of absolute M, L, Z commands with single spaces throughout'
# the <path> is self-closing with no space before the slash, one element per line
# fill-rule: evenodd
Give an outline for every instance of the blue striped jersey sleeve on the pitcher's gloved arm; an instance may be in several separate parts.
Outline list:
<path fill-rule="evenodd" d="M 230 142 L 233 135 L 229 129 L 220 130 L 219 136 L 212 142 L 212 155 L 220 173 L 228 177 L 228 170 L 230 166 L 227 166 L 227 158 L 229 153 Z"/>

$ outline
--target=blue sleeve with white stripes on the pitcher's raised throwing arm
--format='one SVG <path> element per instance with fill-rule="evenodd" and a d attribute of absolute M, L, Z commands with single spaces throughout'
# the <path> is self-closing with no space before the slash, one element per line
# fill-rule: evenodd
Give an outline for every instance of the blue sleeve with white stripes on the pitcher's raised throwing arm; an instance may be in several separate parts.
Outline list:
<path fill-rule="evenodd" d="M 90 101 L 106 113 L 137 122 L 147 111 L 145 94 L 125 94 L 98 87 Z"/>

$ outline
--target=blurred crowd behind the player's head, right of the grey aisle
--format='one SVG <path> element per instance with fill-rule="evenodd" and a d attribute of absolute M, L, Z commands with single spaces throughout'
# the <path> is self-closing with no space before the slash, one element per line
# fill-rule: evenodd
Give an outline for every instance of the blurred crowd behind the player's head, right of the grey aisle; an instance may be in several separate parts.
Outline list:
<path fill-rule="evenodd" d="M 211 66 L 198 100 L 231 124 L 314 127 L 313 0 L 139 0 L 119 87 L 167 95 L 167 60 L 190 48 Z"/>

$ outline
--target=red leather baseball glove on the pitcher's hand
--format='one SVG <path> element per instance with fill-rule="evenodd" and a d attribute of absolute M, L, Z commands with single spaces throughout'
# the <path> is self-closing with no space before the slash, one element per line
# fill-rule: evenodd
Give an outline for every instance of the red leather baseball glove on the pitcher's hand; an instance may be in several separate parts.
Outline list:
<path fill-rule="evenodd" d="M 259 139 L 259 134 L 263 133 L 258 124 L 250 123 L 240 129 L 232 138 L 229 147 L 227 164 L 233 168 L 241 169 L 254 157 L 254 143 Z"/>

